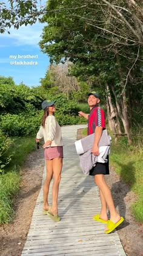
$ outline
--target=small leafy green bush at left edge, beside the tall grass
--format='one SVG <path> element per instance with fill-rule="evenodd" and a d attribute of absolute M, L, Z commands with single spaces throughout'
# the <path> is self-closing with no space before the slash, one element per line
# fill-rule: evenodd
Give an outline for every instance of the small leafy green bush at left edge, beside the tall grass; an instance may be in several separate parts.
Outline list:
<path fill-rule="evenodd" d="M 0 174 L 4 172 L 4 168 L 10 160 L 12 159 L 13 154 L 7 155 L 7 151 L 12 145 L 12 139 L 4 135 L 2 130 L 0 130 Z"/>

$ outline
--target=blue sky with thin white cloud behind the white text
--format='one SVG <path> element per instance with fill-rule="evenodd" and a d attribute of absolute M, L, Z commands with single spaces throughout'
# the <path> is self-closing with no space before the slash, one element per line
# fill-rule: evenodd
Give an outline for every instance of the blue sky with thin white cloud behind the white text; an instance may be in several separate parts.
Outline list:
<path fill-rule="evenodd" d="M 0 34 L 0 76 L 11 76 L 15 84 L 23 82 L 28 87 L 40 85 L 49 65 L 48 55 L 39 48 L 45 24 L 8 29 L 10 34 Z"/>

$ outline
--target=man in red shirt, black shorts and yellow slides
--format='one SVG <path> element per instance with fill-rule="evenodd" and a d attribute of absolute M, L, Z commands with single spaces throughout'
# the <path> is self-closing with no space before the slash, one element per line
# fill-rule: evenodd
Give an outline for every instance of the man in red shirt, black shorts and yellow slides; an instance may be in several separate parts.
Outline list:
<path fill-rule="evenodd" d="M 79 112 L 79 116 L 84 116 L 88 119 L 87 135 L 95 133 L 95 139 L 93 141 L 93 148 L 91 152 L 94 155 L 99 155 L 99 140 L 102 135 L 102 130 L 105 129 L 105 115 L 104 110 L 98 106 L 101 96 L 96 91 L 88 93 L 88 105 L 90 107 L 90 114 Z M 107 163 L 96 163 L 90 170 L 90 176 L 95 176 L 95 183 L 99 187 L 100 199 L 101 199 L 101 212 L 93 216 L 95 221 L 103 222 L 107 224 L 105 233 L 111 233 L 116 227 L 118 227 L 124 218 L 119 216 L 116 212 L 111 191 L 105 182 L 104 175 L 109 174 L 109 165 Z M 110 211 L 110 220 L 107 216 L 107 205 Z"/>

